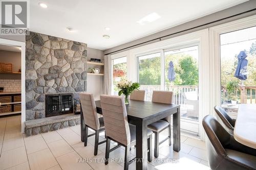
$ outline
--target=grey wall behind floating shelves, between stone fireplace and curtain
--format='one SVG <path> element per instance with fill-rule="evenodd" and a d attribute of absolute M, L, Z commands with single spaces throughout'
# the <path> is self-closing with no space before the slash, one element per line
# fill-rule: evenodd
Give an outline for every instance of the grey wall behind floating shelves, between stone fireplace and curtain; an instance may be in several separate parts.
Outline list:
<path fill-rule="evenodd" d="M 87 60 L 90 61 L 91 58 L 103 59 L 103 51 L 94 48 L 87 48 Z M 93 65 L 88 65 L 87 67 L 92 67 Z M 103 72 L 103 66 L 94 66 Z M 93 93 L 94 99 L 99 100 L 100 94 L 103 94 L 103 76 L 87 76 L 87 91 Z"/>

